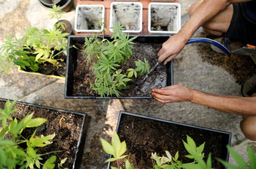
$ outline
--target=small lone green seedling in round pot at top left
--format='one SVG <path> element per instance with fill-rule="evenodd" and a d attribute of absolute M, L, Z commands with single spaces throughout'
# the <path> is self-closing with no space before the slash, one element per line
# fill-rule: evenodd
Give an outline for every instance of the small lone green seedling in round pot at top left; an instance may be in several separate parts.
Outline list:
<path fill-rule="evenodd" d="M 65 12 L 63 12 L 60 9 L 60 6 L 56 6 L 53 5 L 51 9 L 49 9 L 51 11 L 51 13 L 49 14 L 51 19 L 56 19 L 57 23 L 56 23 L 56 29 L 62 29 L 63 31 L 66 30 L 65 24 L 63 22 L 60 22 L 60 18 L 62 17 L 63 14 L 65 14 Z"/>

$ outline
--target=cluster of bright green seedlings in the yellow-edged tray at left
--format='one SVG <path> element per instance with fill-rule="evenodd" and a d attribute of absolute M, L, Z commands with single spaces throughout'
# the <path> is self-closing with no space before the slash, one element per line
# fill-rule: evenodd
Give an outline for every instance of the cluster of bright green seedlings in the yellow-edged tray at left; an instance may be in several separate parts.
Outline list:
<path fill-rule="evenodd" d="M 54 58 L 67 50 L 67 35 L 69 34 L 62 34 L 55 27 L 52 30 L 28 27 L 25 36 L 19 39 L 7 35 L 6 41 L 0 47 L 0 70 L 8 72 L 11 63 L 34 72 L 45 62 L 57 66 Z"/>

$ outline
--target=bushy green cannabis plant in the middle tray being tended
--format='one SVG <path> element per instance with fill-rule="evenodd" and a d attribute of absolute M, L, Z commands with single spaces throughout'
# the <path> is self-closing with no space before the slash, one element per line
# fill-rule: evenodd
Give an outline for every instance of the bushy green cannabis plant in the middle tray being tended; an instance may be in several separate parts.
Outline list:
<path fill-rule="evenodd" d="M 127 82 L 131 78 L 143 75 L 150 71 L 150 65 L 147 60 L 135 61 L 136 68 L 122 70 L 120 65 L 129 60 L 133 54 L 133 41 L 136 37 L 130 38 L 129 34 L 123 33 L 123 27 L 118 24 L 113 28 L 111 41 L 104 36 L 85 38 L 84 53 L 87 63 L 92 60 L 93 71 L 95 75 L 94 82 L 91 82 L 91 89 L 98 92 L 101 97 L 116 95 L 120 97 L 121 90 L 127 89 Z"/>

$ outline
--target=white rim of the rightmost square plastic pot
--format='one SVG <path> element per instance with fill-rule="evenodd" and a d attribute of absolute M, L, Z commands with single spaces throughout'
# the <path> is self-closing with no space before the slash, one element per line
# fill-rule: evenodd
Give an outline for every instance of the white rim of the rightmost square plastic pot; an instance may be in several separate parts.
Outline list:
<path fill-rule="evenodd" d="M 152 5 L 164 5 L 164 6 L 177 6 L 177 17 L 178 17 L 178 29 L 177 31 L 152 31 L 151 30 L 151 6 Z M 148 24 L 147 24 L 148 32 L 151 34 L 177 34 L 181 29 L 181 6 L 179 3 L 150 3 L 148 4 Z"/>

